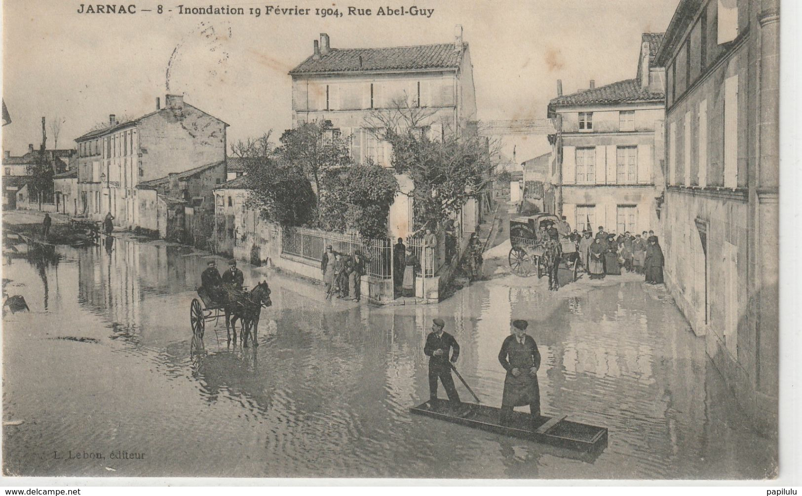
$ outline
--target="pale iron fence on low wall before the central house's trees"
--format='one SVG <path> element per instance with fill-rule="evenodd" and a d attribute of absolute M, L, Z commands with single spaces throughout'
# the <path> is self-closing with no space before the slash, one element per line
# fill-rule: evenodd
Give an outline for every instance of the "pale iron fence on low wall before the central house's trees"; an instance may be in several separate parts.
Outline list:
<path fill-rule="evenodd" d="M 392 276 L 392 247 L 389 239 L 365 240 L 355 234 L 319 231 L 308 228 L 282 228 L 282 255 L 292 255 L 319 267 L 326 246 L 343 255 L 360 251 L 365 259 L 368 276 L 390 279 Z"/>

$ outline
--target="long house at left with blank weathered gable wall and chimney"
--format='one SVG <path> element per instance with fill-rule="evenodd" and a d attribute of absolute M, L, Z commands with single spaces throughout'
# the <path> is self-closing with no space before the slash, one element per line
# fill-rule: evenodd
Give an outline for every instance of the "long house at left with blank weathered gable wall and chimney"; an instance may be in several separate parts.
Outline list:
<path fill-rule="evenodd" d="M 109 125 L 75 139 L 78 145 L 79 209 L 91 218 L 107 212 L 115 224 L 139 225 L 136 186 L 212 163 L 225 162 L 228 124 L 167 95 L 164 108 Z M 225 171 L 221 182 L 225 179 Z"/>

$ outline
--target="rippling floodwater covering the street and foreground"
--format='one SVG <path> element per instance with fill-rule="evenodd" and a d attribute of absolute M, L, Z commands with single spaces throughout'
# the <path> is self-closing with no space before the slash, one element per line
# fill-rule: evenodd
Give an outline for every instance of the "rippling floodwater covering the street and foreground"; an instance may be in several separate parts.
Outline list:
<path fill-rule="evenodd" d="M 611 276 L 553 293 L 545 280 L 489 263 L 489 280 L 440 304 L 375 308 L 326 301 L 319 286 L 246 265 L 245 284 L 267 280 L 273 307 L 262 312 L 258 348 L 242 349 L 227 346 L 222 321 L 192 343 L 189 305 L 206 260 L 124 239 L 6 257 L 6 290 L 31 310 L 4 319 L 6 474 L 776 474 L 776 442 L 751 431 L 703 340 L 659 289 Z M 497 354 L 509 320 L 528 319 L 543 357 L 544 413 L 606 426 L 609 446 L 579 459 L 409 413 L 428 397 L 432 317 L 459 341 L 458 369 L 488 405 L 501 400 Z"/>

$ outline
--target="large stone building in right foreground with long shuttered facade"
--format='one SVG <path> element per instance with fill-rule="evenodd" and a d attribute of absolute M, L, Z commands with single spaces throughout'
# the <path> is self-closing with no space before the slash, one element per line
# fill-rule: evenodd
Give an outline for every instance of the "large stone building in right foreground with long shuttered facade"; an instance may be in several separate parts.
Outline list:
<path fill-rule="evenodd" d="M 780 13 L 682 0 L 666 67 L 666 284 L 755 425 L 776 434 Z"/>

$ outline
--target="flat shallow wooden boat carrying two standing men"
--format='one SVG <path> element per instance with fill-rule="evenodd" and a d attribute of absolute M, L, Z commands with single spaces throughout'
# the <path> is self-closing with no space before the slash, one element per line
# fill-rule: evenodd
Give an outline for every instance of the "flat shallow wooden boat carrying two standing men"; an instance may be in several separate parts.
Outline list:
<path fill-rule="evenodd" d="M 499 422 L 500 409 L 493 406 L 463 403 L 456 408 L 448 400 L 427 401 L 412 407 L 411 413 L 439 418 L 514 438 L 528 439 L 568 450 L 601 453 L 607 447 L 607 428 L 569 421 L 565 415 L 541 416 L 532 422 L 529 413 L 513 412 L 509 425 Z"/>

